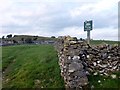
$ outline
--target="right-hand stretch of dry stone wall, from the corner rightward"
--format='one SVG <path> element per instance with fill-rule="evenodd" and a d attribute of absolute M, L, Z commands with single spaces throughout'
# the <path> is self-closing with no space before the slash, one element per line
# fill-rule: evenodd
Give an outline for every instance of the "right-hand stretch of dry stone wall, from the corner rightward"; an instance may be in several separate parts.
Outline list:
<path fill-rule="evenodd" d="M 113 72 L 120 71 L 120 47 L 118 45 L 101 45 L 87 48 L 84 61 L 86 70 L 93 75 L 111 76 Z"/>

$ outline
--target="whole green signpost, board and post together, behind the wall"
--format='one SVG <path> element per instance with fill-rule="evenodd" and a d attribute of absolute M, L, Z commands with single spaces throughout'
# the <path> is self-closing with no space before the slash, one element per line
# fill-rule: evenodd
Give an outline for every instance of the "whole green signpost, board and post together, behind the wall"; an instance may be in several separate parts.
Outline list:
<path fill-rule="evenodd" d="M 84 22 L 84 31 L 87 31 L 87 43 L 90 44 L 90 31 L 92 30 L 92 20 Z"/>

